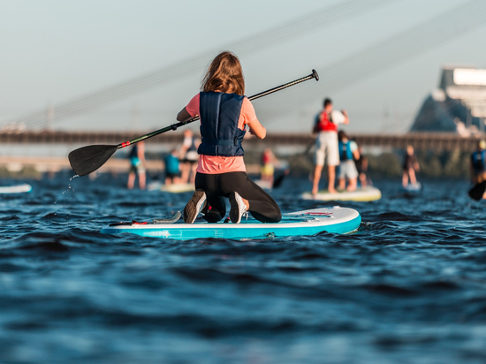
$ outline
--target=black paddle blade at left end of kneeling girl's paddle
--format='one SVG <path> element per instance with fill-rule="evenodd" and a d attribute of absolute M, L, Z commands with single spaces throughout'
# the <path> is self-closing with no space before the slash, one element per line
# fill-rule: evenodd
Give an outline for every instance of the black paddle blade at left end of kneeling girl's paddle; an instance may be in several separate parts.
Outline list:
<path fill-rule="evenodd" d="M 86 176 L 106 163 L 117 149 L 118 146 L 87 146 L 73 150 L 68 155 L 72 171 L 78 176 Z"/>

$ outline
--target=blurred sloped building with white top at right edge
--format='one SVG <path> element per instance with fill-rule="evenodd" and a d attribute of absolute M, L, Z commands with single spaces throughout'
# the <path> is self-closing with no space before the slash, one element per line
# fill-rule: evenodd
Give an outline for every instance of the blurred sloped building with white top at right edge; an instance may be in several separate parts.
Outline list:
<path fill-rule="evenodd" d="M 449 132 L 465 137 L 484 132 L 486 70 L 444 68 L 439 88 L 429 95 L 411 132 Z"/>

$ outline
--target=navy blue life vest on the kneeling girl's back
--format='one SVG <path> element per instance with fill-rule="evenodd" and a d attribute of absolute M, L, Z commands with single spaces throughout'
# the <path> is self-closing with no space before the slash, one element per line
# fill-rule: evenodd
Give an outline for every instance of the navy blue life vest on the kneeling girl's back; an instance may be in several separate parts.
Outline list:
<path fill-rule="evenodd" d="M 240 156 L 245 152 L 241 140 L 247 133 L 238 120 L 245 96 L 220 92 L 201 92 L 199 112 L 202 142 L 200 155 Z"/>

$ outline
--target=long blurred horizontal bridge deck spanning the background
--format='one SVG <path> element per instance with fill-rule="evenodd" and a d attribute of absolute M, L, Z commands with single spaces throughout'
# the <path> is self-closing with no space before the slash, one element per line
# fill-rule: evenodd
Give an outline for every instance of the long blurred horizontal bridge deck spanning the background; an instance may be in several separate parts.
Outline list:
<path fill-rule="evenodd" d="M 61 132 L 42 131 L 24 133 L 0 133 L 2 144 L 67 144 L 67 145 L 116 145 L 131 140 L 144 132 Z M 472 151 L 478 138 L 461 137 L 457 133 L 351 133 L 350 137 L 363 147 L 404 149 L 412 145 L 416 150 Z M 310 133 L 269 133 L 264 141 L 253 137 L 245 140 L 248 147 L 307 146 L 314 140 Z M 149 144 L 179 144 L 183 140 L 181 132 L 169 132 L 146 140 Z"/>

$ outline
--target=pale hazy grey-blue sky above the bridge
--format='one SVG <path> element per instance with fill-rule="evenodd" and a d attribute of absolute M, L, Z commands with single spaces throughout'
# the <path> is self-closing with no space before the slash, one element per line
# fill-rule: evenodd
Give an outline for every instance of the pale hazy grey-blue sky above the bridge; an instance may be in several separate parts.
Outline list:
<path fill-rule="evenodd" d="M 0 0 L 0 125 L 157 69 L 201 58 L 195 72 L 178 80 L 102 110 L 55 120 L 53 127 L 151 131 L 170 125 L 199 92 L 208 65 L 201 55 L 214 52 L 216 56 L 249 36 L 256 42 L 272 28 L 340 3 L 343 1 Z M 247 95 L 306 76 L 313 68 L 329 76 L 326 70 L 330 65 L 339 70 L 336 64 L 340 60 L 349 60 L 354 53 L 467 4 L 467 0 L 388 3 L 242 55 Z M 270 132 L 302 133 L 310 131 L 323 98 L 331 97 L 336 108 L 346 109 L 350 115 L 347 131 L 403 133 L 421 102 L 437 87 L 444 64 L 486 68 L 484 39 L 486 27 L 480 27 L 425 52 L 413 52 L 383 71 L 360 75 L 343 87 L 337 87 L 336 81 L 326 85 L 323 77 L 318 86 L 303 83 L 262 98 L 254 102 L 255 109 Z M 377 50 L 376 57 L 382 56 Z M 305 101 L 289 107 L 290 101 L 308 90 L 312 94 L 306 94 Z M 274 105 L 273 113 L 268 111 L 270 104 Z"/>

